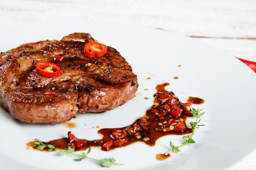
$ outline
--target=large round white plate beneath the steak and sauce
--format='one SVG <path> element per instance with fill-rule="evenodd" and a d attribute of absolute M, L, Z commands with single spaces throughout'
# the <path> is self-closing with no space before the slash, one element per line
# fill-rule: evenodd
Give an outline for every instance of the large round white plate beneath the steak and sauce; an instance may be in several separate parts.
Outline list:
<path fill-rule="evenodd" d="M 139 88 L 132 101 L 102 114 L 78 115 L 70 120 L 77 124 L 68 129 L 59 125 L 24 124 L 0 110 L 0 169 L 1 170 L 70 170 L 101 169 L 89 160 L 73 161 L 73 157 L 58 157 L 55 153 L 26 149 L 34 138 L 43 141 L 65 137 L 71 130 L 79 138 L 99 138 L 100 128 L 123 127 L 145 114 L 153 103 L 155 86 L 169 82 L 182 102 L 188 96 L 205 99 L 194 105 L 206 111 L 204 127 L 197 129 L 196 144 L 172 153 L 165 161 L 155 159 L 166 152 L 169 141 L 180 143 L 181 136 L 164 136 L 156 146 L 135 143 L 128 147 L 102 152 L 93 148 L 91 157 L 115 157 L 124 166 L 112 170 L 220 170 L 229 167 L 250 153 L 256 146 L 256 74 L 236 58 L 191 38 L 155 29 L 102 23 L 65 23 L 37 25 L 2 30 L 0 51 L 20 44 L 45 39 L 60 39 L 73 32 L 91 33 L 99 42 L 116 48 L 138 75 Z M 179 68 L 178 65 L 182 66 Z M 173 79 L 178 76 L 179 79 Z M 151 80 L 146 80 L 151 77 Z M 148 91 L 144 89 L 148 88 Z M 145 100 L 144 97 L 149 97 Z M 84 125 L 86 124 L 86 126 Z"/>

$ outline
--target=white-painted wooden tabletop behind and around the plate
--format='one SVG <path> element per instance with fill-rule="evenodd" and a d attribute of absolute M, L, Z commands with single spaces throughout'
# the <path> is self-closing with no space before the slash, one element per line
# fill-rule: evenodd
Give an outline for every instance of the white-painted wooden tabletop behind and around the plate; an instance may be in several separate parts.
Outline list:
<path fill-rule="evenodd" d="M 69 21 L 161 28 L 256 61 L 256 0 L 0 0 L 0 29 Z M 227 170 L 256 170 L 256 149 Z"/>

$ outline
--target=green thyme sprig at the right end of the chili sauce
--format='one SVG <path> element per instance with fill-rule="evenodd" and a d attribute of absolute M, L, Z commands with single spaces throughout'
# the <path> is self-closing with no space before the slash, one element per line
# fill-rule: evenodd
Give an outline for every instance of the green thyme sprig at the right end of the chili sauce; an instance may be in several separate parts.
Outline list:
<path fill-rule="evenodd" d="M 203 109 L 195 109 L 195 108 L 192 108 L 192 111 L 191 113 L 193 114 L 193 117 L 196 117 L 196 121 L 191 121 L 189 122 L 191 128 L 192 128 L 192 133 L 190 135 L 187 135 L 187 136 L 182 136 L 182 139 L 183 141 L 181 142 L 181 145 L 179 146 L 175 146 L 173 144 L 173 142 L 170 141 L 170 147 L 171 149 L 165 153 L 165 155 L 171 153 L 171 152 L 174 152 L 174 153 L 177 153 L 177 152 L 180 152 L 179 148 L 185 146 L 185 145 L 188 145 L 190 143 L 196 143 L 196 140 L 194 140 L 192 137 L 194 136 L 195 134 L 195 131 L 197 129 L 197 126 L 203 126 L 203 125 L 199 125 L 198 123 L 201 121 L 201 117 L 205 114 L 205 112 L 202 112 Z"/>

